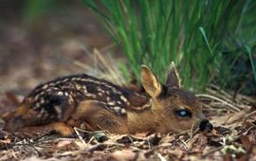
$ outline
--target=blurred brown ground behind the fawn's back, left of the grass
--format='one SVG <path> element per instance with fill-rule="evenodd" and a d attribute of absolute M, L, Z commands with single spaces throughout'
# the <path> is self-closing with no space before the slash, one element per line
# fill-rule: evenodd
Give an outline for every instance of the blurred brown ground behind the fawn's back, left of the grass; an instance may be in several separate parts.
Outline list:
<path fill-rule="evenodd" d="M 31 89 L 39 82 L 84 72 L 88 53 L 112 42 L 87 9 L 66 9 L 32 25 L 21 17 L 0 23 L 0 90 Z"/>

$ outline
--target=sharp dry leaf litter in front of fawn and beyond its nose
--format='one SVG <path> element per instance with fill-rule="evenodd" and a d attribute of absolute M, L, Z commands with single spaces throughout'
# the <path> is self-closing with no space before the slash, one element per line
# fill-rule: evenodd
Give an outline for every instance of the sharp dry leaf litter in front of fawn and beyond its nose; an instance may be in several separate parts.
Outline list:
<path fill-rule="evenodd" d="M 256 160 L 252 99 L 239 95 L 231 101 L 224 91 L 212 89 L 197 97 L 213 133 L 109 134 L 75 128 L 77 137 L 65 138 L 51 132 L 20 137 L 2 131 L 0 160 Z M 2 107 L 13 98 L 7 94 Z"/>

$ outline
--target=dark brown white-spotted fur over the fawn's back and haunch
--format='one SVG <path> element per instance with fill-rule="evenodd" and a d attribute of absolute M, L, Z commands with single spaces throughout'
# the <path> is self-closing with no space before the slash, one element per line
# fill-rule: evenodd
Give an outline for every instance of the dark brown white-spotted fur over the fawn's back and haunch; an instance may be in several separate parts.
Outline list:
<path fill-rule="evenodd" d="M 141 111 L 147 108 L 145 104 L 148 102 L 147 98 L 135 92 L 85 74 L 40 84 L 24 102 L 43 120 L 63 120 L 67 118 L 65 114 L 68 110 L 70 112 L 70 108 L 75 109 L 86 99 L 101 102 L 104 105 L 102 108 L 107 108 L 118 116 L 125 116 L 127 110 Z"/>

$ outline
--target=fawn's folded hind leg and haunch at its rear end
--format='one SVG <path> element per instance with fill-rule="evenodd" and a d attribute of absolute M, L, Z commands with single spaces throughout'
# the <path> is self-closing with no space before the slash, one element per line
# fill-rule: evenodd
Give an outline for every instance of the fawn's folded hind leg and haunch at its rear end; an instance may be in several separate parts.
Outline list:
<path fill-rule="evenodd" d="M 47 103 L 40 104 L 38 107 L 25 101 L 16 110 L 14 116 L 9 116 L 4 130 L 16 132 L 27 126 L 44 126 L 51 122 L 65 122 L 75 110 L 73 98 L 70 96 L 58 96 L 51 93 L 45 98 Z"/>

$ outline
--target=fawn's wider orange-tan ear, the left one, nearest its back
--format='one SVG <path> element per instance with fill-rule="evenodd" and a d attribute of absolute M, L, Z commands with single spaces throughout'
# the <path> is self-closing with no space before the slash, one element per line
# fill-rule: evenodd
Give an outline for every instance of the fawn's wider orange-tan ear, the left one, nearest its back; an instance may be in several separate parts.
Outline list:
<path fill-rule="evenodd" d="M 152 98 L 156 98 L 161 93 L 161 84 L 146 65 L 141 65 L 141 83 Z"/>

